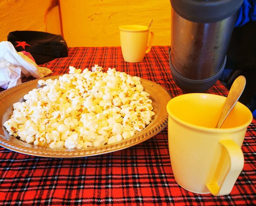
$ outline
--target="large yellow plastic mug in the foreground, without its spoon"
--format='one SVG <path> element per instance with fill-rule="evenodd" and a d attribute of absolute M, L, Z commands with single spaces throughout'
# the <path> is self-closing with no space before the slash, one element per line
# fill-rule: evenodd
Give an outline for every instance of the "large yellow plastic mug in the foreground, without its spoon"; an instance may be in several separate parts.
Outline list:
<path fill-rule="evenodd" d="M 191 93 L 167 104 L 172 171 L 177 183 L 188 191 L 227 195 L 243 169 L 241 146 L 252 113 L 237 102 L 222 127 L 215 129 L 225 100 Z"/>

